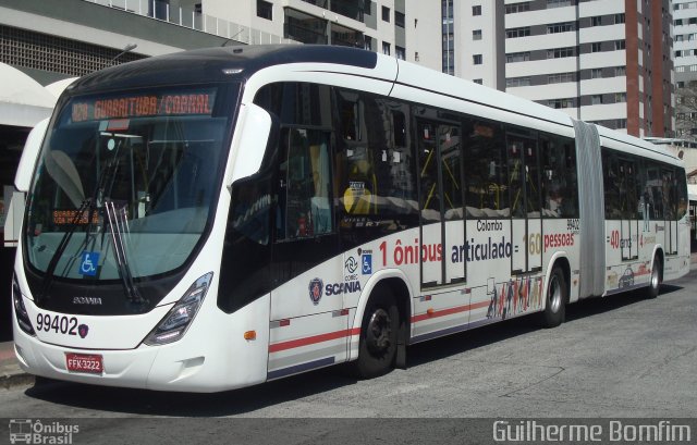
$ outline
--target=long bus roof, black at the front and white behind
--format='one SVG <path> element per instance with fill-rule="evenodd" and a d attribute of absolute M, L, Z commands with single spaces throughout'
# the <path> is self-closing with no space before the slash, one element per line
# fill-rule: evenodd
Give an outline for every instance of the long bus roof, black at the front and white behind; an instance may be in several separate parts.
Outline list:
<path fill-rule="evenodd" d="M 256 72 L 286 63 L 318 63 L 374 70 L 379 64 L 393 63 L 395 77 L 376 70 L 375 77 L 423 89 L 432 94 L 465 100 L 492 109 L 519 114 L 548 123 L 573 126 L 572 118 L 559 110 L 502 92 L 476 83 L 447 75 L 414 63 L 363 49 L 326 45 L 232 46 L 188 50 L 158 55 L 108 67 L 88 74 L 68 88 L 70 94 L 124 90 L 135 86 L 186 85 L 195 83 L 244 81 Z M 374 77 L 374 78 L 375 78 Z M 612 129 L 597 126 L 601 137 L 614 148 L 634 147 L 652 152 L 658 159 L 680 163 L 662 147 Z M 634 151 L 629 149 L 628 151 Z"/>

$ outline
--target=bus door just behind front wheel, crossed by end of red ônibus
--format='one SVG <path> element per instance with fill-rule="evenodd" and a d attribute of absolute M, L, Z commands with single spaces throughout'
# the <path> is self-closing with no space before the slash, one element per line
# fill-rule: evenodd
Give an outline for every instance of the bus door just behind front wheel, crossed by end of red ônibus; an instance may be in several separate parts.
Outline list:
<path fill-rule="evenodd" d="M 419 121 L 421 288 L 465 281 L 466 261 L 451 261 L 465 243 L 460 126 Z"/>

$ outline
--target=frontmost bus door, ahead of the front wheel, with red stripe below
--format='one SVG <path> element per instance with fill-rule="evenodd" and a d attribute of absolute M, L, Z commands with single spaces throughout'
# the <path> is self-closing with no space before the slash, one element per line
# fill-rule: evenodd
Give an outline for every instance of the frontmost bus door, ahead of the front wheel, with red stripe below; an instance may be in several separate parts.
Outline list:
<path fill-rule="evenodd" d="M 331 140 L 325 129 L 286 127 L 280 133 L 269 378 L 346 356 L 343 336 L 321 347 L 290 344 L 347 329 L 347 317 L 341 317 L 344 261 L 332 212 Z"/>

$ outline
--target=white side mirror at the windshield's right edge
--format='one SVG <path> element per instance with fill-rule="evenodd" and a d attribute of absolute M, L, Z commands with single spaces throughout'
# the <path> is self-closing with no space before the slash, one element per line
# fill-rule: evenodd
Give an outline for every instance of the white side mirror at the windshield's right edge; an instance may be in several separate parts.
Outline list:
<path fill-rule="evenodd" d="M 232 175 L 227 182 L 250 176 L 259 171 L 271 133 L 271 115 L 254 103 L 243 104 L 232 138 Z"/>

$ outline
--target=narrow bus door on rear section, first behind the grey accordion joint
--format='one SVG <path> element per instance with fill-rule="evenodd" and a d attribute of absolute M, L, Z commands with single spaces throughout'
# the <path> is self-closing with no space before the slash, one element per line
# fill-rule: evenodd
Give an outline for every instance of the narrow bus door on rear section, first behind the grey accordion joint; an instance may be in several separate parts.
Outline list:
<path fill-rule="evenodd" d="M 620 226 L 620 250 L 622 261 L 639 258 L 639 220 L 637 217 L 639 197 L 637 189 L 638 169 L 636 162 L 617 159 L 620 172 L 620 194 L 622 202 L 622 220 Z"/>

